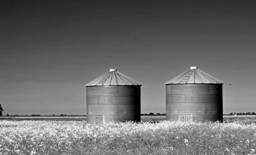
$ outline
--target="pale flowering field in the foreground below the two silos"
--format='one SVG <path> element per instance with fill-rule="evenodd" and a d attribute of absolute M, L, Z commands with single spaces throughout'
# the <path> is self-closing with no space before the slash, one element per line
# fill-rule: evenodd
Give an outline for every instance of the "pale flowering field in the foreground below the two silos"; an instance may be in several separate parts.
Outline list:
<path fill-rule="evenodd" d="M 251 121 L 0 121 L 0 154 L 256 154 Z"/>

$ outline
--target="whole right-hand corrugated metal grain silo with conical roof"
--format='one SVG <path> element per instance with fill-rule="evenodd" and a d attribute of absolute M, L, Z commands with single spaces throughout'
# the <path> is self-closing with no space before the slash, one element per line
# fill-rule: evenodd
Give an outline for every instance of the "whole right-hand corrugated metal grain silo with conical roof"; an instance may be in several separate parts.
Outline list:
<path fill-rule="evenodd" d="M 191 67 L 165 85 L 167 120 L 223 121 L 221 81 Z"/>

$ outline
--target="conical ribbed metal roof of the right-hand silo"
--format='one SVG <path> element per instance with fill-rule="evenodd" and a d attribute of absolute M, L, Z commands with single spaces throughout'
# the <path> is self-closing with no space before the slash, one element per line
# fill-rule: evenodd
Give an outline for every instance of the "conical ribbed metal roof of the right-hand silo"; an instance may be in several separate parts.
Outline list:
<path fill-rule="evenodd" d="M 203 72 L 197 67 L 190 67 L 190 70 L 176 76 L 165 83 L 168 84 L 223 84 L 211 75 Z"/>

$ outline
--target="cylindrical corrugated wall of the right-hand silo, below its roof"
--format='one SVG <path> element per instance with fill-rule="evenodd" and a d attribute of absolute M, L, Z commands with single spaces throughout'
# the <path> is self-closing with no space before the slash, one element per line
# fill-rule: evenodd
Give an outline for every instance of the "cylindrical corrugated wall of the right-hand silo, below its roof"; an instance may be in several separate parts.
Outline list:
<path fill-rule="evenodd" d="M 193 115 L 193 121 L 223 121 L 222 84 L 166 85 L 166 119 Z"/>

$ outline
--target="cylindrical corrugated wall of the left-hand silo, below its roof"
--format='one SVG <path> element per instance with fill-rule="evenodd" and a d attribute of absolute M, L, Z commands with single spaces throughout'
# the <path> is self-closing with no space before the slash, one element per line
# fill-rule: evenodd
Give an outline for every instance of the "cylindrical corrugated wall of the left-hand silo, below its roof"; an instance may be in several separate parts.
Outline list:
<path fill-rule="evenodd" d="M 87 86 L 87 121 L 140 121 L 140 86 Z"/>

